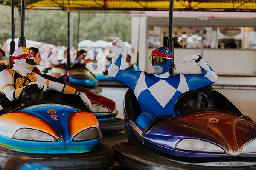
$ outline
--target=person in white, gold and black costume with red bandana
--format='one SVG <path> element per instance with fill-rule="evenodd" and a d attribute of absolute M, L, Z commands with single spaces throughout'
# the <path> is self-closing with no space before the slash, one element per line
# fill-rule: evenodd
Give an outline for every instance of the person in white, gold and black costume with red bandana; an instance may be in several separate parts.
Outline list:
<path fill-rule="evenodd" d="M 20 91 L 27 85 L 36 84 L 38 88 L 46 91 L 55 90 L 64 94 L 79 96 L 85 105 L 91 109 L 91 101 L 86 94 L 69 85 L 51 81 L 32 72 L 36 65 L 35 52 L 26 47 L 17 48 L 10 60 L 12 69 L 5 69 L 0 72 L 0 104 L 2 108 L 17 108 L 17 97 Z"/>

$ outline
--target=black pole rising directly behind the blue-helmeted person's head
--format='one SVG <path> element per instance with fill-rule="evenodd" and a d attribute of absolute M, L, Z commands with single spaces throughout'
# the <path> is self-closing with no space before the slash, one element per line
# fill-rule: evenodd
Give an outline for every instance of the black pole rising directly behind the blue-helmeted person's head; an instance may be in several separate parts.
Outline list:
<path fill-rule="evenodd" d="M 173 20 L 173 0 L 170 0 L 170 7 L 169 7 L 169 32 L 168 32 L 168 40 L 166 41 L 166 48 L 172 51 L 174 63 L 174 54 L 173 54 L 173 40 L 172 40 L 172 20 Z M 173 75 L 173 66 L 170 69 L 170 74 Z"/>

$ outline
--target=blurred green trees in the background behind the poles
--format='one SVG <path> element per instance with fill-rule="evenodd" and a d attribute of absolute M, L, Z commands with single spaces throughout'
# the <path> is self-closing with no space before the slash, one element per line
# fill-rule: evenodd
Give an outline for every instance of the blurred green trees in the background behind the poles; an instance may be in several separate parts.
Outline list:
<path fill-rule="evenodd" d="M 11 7 L 0 5 L 0 43 L 11 38 Z M 25 38 L 38 42 L 67 46 L 67 11 L 26 10 Z M 19 11 L 15 11 L 15 38 L 20 37 Z M 73 46 L 77 44 L 78 12 L 73 13 Z M 70 13 L 71 24 L 71 13 Z M 80 13 L 79 41 L 107 40 L 106 37 L 120 37 L 130 42 L 131 18 L 120 11 L 83 11 Z M 71 28 L 70 28 L 71 29 Z M 109 40 L 108 40 L 109 41 Z"/>

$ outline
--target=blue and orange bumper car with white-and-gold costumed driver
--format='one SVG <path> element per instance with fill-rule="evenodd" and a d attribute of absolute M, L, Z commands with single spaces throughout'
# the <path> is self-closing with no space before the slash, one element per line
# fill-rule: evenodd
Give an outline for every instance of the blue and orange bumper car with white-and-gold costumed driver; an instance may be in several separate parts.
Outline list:
<path fill-rule="evenodd" d="M 26 156 L 54 170 L 113 166 L 114 152 L 100 143 L 99 122 L 79 96 L 29 85 L 17 101 L 0 111 L 1 163 Z"/>

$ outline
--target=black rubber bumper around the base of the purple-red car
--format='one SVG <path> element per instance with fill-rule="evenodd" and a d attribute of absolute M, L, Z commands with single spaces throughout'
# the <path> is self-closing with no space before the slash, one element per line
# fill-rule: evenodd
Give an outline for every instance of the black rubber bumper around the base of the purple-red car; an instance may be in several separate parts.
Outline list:
<path fill-rule="evenodd" d="M 248 170 L 256 169 L 256 160 L 183 162 L 166 155 L 159 155 L 131 142 L 114 145 L 116 161 L 132 170 Z M 196 160 L 196 158 L 194 158 Z"/>

